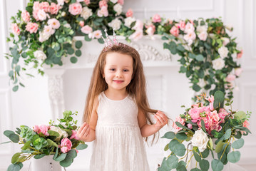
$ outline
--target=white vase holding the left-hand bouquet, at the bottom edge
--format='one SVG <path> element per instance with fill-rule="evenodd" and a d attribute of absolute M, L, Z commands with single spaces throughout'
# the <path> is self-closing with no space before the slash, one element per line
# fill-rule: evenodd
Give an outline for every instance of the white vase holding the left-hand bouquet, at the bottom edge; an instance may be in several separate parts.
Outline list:
<path fill-rule="evenodd" d="M 61 165 L 53 160 L 53 155 L 46 155 L 41 159 L 32 158 L 31 171 L 61 171 Z"/>

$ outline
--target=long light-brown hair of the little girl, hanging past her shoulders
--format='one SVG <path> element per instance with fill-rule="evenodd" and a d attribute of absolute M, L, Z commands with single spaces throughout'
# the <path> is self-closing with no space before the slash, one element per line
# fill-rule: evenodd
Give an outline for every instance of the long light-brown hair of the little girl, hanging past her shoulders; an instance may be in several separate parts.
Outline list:
<path fill-rule="evenodd" d="M 91 83 L 86 98 L 86 105 L 83 112 L 83 122 L 88 123 L 90 121 L 95 98 L 101 92 L 108 89 L 108 84 L 103 78 L 103 70 L 106 64 L 106 55 L 111 52 L 122 53 L 133 58 L 133 78 L 126 87 L 126 91 L 129 95 L 135 98 L 138 109 L 143 111 L 147 123 L 153 125 L 149 115 L 156 113 L 157 110 L 151 109 L 148 104 L 148 98 L 145 90 L 145 76 L 143 72 L 143 65 L 140 61 L 140 54 L 135 50 L 135 48 L 124 45 L 123 43 L 119 43 L 118 46 L 112 46 L 107 50 L 103 49 L 103 51 L 101 51 L 98 61 L 96 62 L 96 66 L 93 69 L 93 76 L 91 77 Z M 148 138 L 145 138 L 145 140 L 147 141 Z M 155 134 L 153 137 L 153 141 L 154 140 Z"/>

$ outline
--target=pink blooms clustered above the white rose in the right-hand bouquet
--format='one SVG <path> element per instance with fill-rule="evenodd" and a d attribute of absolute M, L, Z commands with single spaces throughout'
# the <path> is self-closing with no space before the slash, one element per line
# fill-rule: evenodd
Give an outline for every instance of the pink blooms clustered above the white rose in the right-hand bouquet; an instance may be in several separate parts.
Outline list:
<path fill-rule="evenodd" d="M 208 98 L 205 98 L 209 101 L 208 106 L 204 106 L 203 103 L 198 103 L 196 105 L 192 105 L 190 110 L 188 110 L 188 115 L 186 117 L 190 118 L 193 123 L 196 123 L 198 127 L 201 127 L 201 121 L 203 120 L 205 123 L 205 129 L 209 135 L 211 135 L 212 130 L 221 130 L 221 123 L 225 122 L 225 117 L 229 115 L 224 108 L 221 108 L 217 113 L 217 110 L 213 108 L 214 97 L 211 95 Z M 175 122 L 178 121 L 182 125 L 185 125 L 185 119 L 176 118 Z M 175 130 L 181 130 L 177 125 L 175 125 Z M 191 124 L 188 124 L 188 128 L 192 128 Z"/>

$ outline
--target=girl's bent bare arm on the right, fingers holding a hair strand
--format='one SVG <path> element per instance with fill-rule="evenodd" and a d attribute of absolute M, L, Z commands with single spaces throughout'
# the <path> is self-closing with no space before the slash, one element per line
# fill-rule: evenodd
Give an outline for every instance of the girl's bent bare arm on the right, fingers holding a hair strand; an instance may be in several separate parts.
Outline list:
<path fill-rule="evenodd" d="M 140 127 L 140 133 L 143 137 L 149 137 L 150 135 L 153 135 L 168 123 L 168 118 L 162 111 L 158 110 L 158 112 L 155 113 L 154 118 L 156 123 L 153 125 L 148 125 L 143 111 L 138 111 L 138 125 Z"/>

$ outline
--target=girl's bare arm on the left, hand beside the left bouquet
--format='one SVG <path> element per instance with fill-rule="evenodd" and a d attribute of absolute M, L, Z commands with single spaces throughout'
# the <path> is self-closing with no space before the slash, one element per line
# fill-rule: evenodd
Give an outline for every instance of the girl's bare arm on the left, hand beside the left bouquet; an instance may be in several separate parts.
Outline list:
<path fill-rule="evenodd" d="M 85 142 L 91 142 L 95 140 L 96 138 L 96 125 L 98 120 L 98 114 L 97 114 L 97 108 L 98 108 L 98 97 L 94 100 L 93 105 L 93 111 L 91 113 L 91 119 L 89 123 L 83 123 L 79 130 L 77 131 L 77 136 L 80 140 L 83 140 Z"/>

